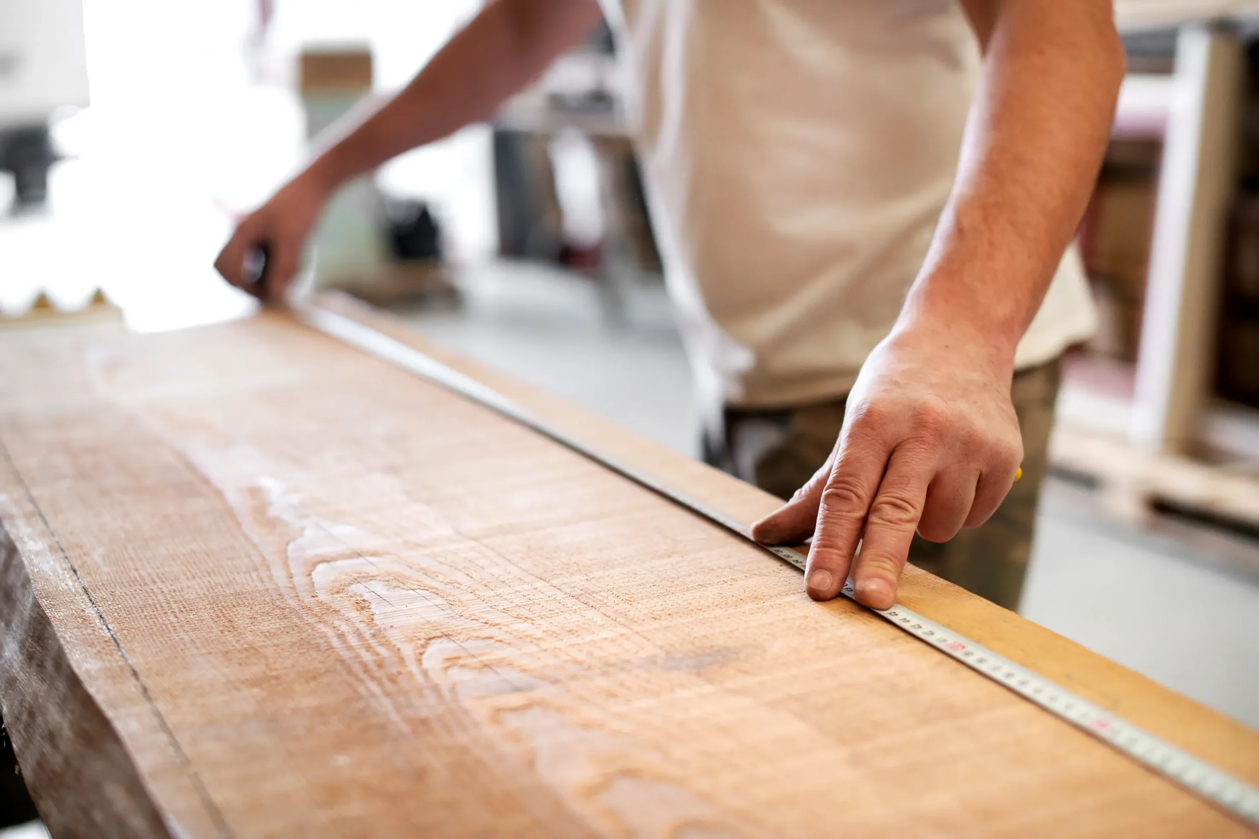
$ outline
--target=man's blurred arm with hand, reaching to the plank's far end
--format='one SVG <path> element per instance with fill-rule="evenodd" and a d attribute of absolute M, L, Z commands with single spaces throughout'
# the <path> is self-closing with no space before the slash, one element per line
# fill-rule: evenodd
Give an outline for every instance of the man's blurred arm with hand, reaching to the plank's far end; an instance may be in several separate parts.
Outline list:
<path fill-rule="evenodd" d="M 248 290 L 244 257 L 266 244 L 268 294 L 282 299 L 327 198 L 394 155 L 488 118 L 599 21 L 596 0 L 496 0 L 456 34 L 400 93 L 358 123 L 246 217 L 214 267 Z"/>

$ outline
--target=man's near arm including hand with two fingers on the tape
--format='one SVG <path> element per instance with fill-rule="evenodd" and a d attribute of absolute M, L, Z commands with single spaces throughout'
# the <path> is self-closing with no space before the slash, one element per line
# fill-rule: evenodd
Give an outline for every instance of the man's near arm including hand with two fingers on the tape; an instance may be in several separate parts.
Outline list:
<path fill-rule="evenodd" d="M 983 45 L 957 180 L 891 334 L 849 394 L 827 464 L 753 528 L 813 535 L 806 588 L 895 602 L 915 529 L 982 524 L 1022 459 L 1015 349 L 1100 166 L 1124 55 L 1108 0 L 963 0 Z"/>

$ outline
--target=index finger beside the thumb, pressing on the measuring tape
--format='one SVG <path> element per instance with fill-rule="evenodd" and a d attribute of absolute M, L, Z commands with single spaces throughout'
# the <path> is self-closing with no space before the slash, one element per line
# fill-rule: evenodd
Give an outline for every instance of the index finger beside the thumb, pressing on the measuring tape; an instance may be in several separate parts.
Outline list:
<path fill-rule="evenodd" d="M 861 427 L 845 428 L 842 435 L 808 549 L 805 590 L 813 600 L 840 593 L 888 465 L 889 446 L 876 435 Z"/>

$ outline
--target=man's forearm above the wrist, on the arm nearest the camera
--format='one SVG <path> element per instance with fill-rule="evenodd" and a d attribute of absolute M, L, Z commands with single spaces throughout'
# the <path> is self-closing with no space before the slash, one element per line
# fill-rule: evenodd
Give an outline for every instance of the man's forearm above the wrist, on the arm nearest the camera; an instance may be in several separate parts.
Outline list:
<path fill-rule="evenodd" d="M 985 45 L 953 193 L 901 325 L 978 330 L 1012 364 L 1084 212 L 1123 78 L 1105 0 L 966 0 Z M 969 333 L 969 334 L 968 334 Z"/>

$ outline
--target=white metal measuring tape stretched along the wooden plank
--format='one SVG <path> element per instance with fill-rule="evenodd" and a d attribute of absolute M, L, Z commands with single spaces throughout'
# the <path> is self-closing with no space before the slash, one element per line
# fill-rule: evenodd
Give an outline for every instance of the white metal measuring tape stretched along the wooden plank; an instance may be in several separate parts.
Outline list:
<path fill-rule="evenodd" d="M 763 551 L 768 551 L 779 559 L 789 562 L 801 571 L 805 569 L 806 557 L 801 552 L 792 548 L 763 545 L 755 542 L 742 522 L 737 522 L 709 504 L 661 482 L 653 475 L 642 471 L 637 466 L 632 466 L 616 457 L 609 457 L 580 440 L 570 437 L 550 423 L 533 416 L 497 391 L 451 369 L 419 350 L 407 346 L 388 335 L 383 335 L 370 326 L 364 326 L 350 317 L 330 312 L 325 309 L 298 305 L 293 311 L 302 322 L 316 330 L 383 360 L 397 364 L 486 408 L 496 411 L 536 431 L 541 436 L 589 457 L 618 475 L 663 495 L 692 513 L 697 513 L 731 533 L 739 534 Z M 856 600 L 852 593 L 851 579 L 844 585 L 840 592 L 850 600 Z M 930 619 L 923 617 L 913 610 L 904 606 L 893 606 L 891 608 L 871 608 L 870 611 L 893 626 L 909 632 L 925 644 L 934 646 L 940 653 L 961 661 L 972 670 L 988 676 L 997 684 L 1005 685 L 1056 717 L 1109 743 L 1124 755 L 1144 763 L 1160 775 L 1183 786 L 1190 792 L 1206 799 L 1230 815 L 1259 828 L 1259 790 L 1240 779 L 1217 770 L 1185 750 L 1155 737 L 1149 732 L 1124 721 L 1122 717 L 1078 697 L 1049 679 L 1032 673 L 1021 664 L 1016 664 L 1003 655 L 993 653 L 988 648 L 976 644 Z"/>

